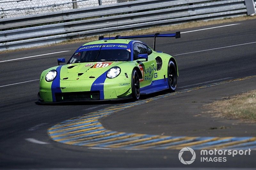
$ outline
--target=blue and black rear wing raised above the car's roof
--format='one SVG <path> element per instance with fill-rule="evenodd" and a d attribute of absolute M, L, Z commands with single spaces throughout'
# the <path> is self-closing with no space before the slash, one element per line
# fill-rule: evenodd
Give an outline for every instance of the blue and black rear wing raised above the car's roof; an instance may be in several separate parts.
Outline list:
<path fill-rule="evenodd" d="M 153 50 L 156 51 L 156 37 L 175 37 L 175 38 L 180 38 L 180 31 L 178 31 L 176 33 L 166 33 L 166 34 L 155 33 L 155 34 L 149 34 L 149 35 L 133 35 L 133 36 L 123 36 L 123 37 L 121 35 L 117 35 L 116 37 L 100 36 L 99 40 L 154 38 Z"/>

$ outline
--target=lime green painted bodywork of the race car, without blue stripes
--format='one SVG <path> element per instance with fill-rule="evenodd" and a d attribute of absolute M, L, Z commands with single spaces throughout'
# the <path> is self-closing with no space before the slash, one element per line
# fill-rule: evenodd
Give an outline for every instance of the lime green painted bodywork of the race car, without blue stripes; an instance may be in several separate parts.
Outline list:
<path fill-rule="evenodd" d="M 122 43 L 128 44 L 132 40 L 108 40 L 107 42 L 101 41 L 94 41 L 89 42 L 84 45 L 91 45 L 91 44 L 103 44 L 103 43 Z M 137 41 L 138 42 L 138 41 Z M 153 51 L 153 50 L 152 50 Z M 162 68 L 160 70 L 156 70 L 156 60 L 155 58 L 160 56 L 163 61 Z M 152 81 L 164 79 L 167 77 L 167 68 L 168 63 L 172 60 L 177 68 L 178 74 L 178 67 L 176 64 L 175 59 L 168 54 L 158 53 L 153 51 L 150 55 L 148 55 L 148 61 L 143 61 L 137 63 L 137 61 L 127 61 L 127 62 L 113 62 L 111 65 L 107 67 L 101 68 L 93 68 L 93 66 L 97 62 L 90 62 L 93 64 L 92 66 L 85 66 L 88 63 L 72 63 L 72 64 L 65 64 L 61 67 L 60 72 L 57 71 L 57 74 L 60 76 L 59 86 L 56 87 L 61 90 L 62 93 L 65 92 L 90 92 L 92 86 L 94 86 L 94 82 L 97 78 L 106 76 L 106 72 L 114 67 L 118 66 L 121 68 L 121 73 L 116 78 L 105 78 L 103 83 L 104 85 L 104 100 L 108 99 L 118 99 L 124 98 L 126 96 L 131 95 L 131 75 L 132 70 L 136 69 L 140 74 L 140 78 L 143 79 L 140 81 L 140 88 L 146 87 L 151 85 Z M 140 66 L 143 66 L 143 71 L 140 70 Z M 40 90 L 39 90 L 39 97 L 44 102 L 53 102 L 53 94 L 52 94 L 52 82 L 47 82 L 45 80 L 46 74 L 52 70 L 60 66 L 55 66 L 44 70 L 40 77 Z M 151 71 L 150 71 L 151 70 Z M 79 74 L 80 73 L 80 74 Z M 82 74 L 83 73 L 83 74 Z M 142 75 L 143 73 L 143 75 Z M 104 75 L 103 75 L 104 74 Z M 156 77 L 157 75 L 157 77 Z M 143 76 L 143 77 L 142 77 Z M 58 78 L 58 76 L 56 77 Z M 66 79 L 68 78 L 68 79 Z M 57 81 L 57 80 L 56 80 Z"/>

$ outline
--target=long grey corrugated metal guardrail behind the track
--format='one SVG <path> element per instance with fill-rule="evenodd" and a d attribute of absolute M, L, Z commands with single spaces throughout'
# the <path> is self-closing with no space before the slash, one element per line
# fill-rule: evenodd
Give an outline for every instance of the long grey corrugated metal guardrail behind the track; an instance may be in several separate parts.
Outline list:
<path fill-rule="evenodd" d="M 0 19 L 0 30 L 4 30 L 0 31 L 0 50 L 113 32 L 116 31 L 117 20 L 118 30 L 124 31 L 198 19 L 241 16 L 248 13 L 249 5 L 252 6 L 245 1 L 248 0 L 139 0 Z M 26 28 L 13 29 L 22 26 Z"/>

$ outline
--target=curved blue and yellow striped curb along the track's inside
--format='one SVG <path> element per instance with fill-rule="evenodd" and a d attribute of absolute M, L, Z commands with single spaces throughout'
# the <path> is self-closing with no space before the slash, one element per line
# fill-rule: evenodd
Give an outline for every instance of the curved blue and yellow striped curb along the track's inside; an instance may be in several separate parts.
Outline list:
<path fill-rule="evenodd" d="M 245 150 L 249 148 L 254 149 L 256 148 L 256 137 L 174 137 L 126 133 L 105 129 L 99 122 L 99 119 L 110 114 L 133 106 L 141 105 L 149 101 L 254 77 L 256 76 L 237 78 L 220 83 L 213 83 L 210 85 L 181 90 L 179 92 L 167 93 L 145 100 L 108 107 L 97 112 L 75 117 L 54 125 L 48 129 L 48 134 L 51 139 L 56 142 L 78 146 L 88 146 L 93 148 L 182 149 L 184 147 L 190 147 L 195 150 L 213 148 L 239 150 Z"/>

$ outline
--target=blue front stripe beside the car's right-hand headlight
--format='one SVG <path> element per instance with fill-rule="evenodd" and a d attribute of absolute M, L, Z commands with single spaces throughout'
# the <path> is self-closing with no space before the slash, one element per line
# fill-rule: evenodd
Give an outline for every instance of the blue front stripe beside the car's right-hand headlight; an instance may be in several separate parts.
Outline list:
<path fill-rule="evenodd" d="M 100 91 L 100 100 L 104 100 L 104 82 L 107 78 L 107 72 L 103 73 L 92 83 L 91 91 Z"/>

